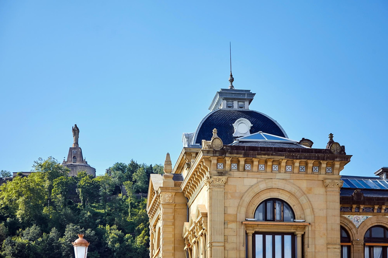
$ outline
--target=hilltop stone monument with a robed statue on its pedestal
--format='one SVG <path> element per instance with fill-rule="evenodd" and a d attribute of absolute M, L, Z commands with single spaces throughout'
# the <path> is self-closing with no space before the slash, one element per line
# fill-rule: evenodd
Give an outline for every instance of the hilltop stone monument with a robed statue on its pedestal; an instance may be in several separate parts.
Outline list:
<path fill-rule="evenodd" d="M 86 171 L 86 173 L 95 177 L 95 168 L 87 164 L 83 159 L 82 150 L 78 146 L 79 128 L 77 124 L 72 127 L 73 131 L 73 146 L 69 148 L 67 160 L 63 160 L 62 165 L 70 168 L 69 175 L 76 176 L 79 171 Z"/>

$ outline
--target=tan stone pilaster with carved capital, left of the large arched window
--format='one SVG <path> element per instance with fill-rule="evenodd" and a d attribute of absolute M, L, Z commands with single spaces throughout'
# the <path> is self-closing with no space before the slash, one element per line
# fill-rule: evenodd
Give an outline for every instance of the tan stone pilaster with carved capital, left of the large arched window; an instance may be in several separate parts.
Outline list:
<path fill-rule="evenodd" d="M 227 177 L 207 177 L 210 257 L 224 258 L 224 187 Z M 209 254 L 208 254 L 209 255 Z"/>

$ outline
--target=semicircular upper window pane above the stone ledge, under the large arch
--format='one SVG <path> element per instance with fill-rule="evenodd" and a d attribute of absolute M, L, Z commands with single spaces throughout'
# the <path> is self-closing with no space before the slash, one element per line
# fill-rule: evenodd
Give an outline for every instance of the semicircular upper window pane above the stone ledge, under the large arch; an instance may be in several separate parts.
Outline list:
<path fill-rule="evenodd" d="M 293 210 L 280 199 L 267 199 L 262 202 L 255 211 L 257 221 L 288 221 L 295 219 Z"/>

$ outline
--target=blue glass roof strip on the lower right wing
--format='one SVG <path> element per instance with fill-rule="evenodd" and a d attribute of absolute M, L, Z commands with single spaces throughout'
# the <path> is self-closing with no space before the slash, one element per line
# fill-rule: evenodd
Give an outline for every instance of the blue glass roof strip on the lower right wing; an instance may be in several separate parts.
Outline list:
<path fill-rule="evenodd" d="M 378 190 L 387 190 L 388 182 L 371 177 L 359 177 L 352 178 L 351 176 L 343 176 L 341 180 L 344 181 L 342 188 L 356 188 L 356 189 L 378 189 Z"/>

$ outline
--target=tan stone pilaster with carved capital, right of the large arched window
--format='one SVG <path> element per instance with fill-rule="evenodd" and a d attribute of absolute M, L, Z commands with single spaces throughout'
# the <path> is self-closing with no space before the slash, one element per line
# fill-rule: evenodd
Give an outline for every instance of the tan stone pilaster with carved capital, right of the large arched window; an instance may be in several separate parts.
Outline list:
<path fill-rule="evenodd" d="M 340 188 L 341 180 L 324 180 L 326 186 L 327 258 L 341 257 Z"/>

